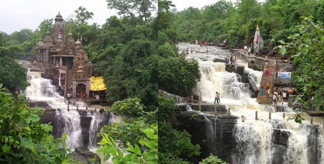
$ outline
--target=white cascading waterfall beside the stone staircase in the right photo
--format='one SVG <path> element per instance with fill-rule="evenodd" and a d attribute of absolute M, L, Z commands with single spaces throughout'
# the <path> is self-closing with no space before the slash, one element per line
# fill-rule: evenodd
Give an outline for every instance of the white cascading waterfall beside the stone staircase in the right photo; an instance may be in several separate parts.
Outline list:
<path fill-rule="evenodd" d="M 324 163 L 324 155 L 321 153 L 324 152 L 322 127 L 310 125 L 307 120 L 303 121 L 302 125 L 293 120 L 287 121 L 282 118 L 281 112 L 276 112 L 274 106 L 259 105 L 256 98 L 251 98 L 249 84 L 241 83 L 239 76 L 227 72 L 225 63 L 213 62 L 214 55 L 189 54 L 188 58 L 197 60 L 200 68 L 201 79 L 197 84 L 196 94 L 201 96 L 203 101 L 213 103 L 215 93 L 220 92 L 221 104 L 226 108 L 230 107 L 231 114 L 239 118 L 232 131 L 235 140 L 232 142 L 235 142 L 235 145 L 232 152 L 228 152 L 231 153 L 231 163 Z M 245 71 L 259 87 L 262 72 L 247 68 L 244 61 L 238 60 L 237 63 L 245 66 Z M 190 109 L 187 107 L 187 111 Z M 258 120 L 255 120 L 255 111 L 259 111 Z M 291 112 L 286 112 L 286 116 L 294 115 L 291 109 L 286 111 Z M 272 112 L 271 119 L 268 119 L 269 112 Z M 241 121 L 241 115 L 246 118 L 244 122 Z M 216 133 L 215 128 L 220 127 L 216 127 L 213 119 L 206 119 L 208 140 L 214 140 L 207 142 L 212 145 L 214 143 L 216 147 L 218 136 L 210 133 Z M 278 133 L 278 136 L 274 136 L 275 133 Z M 274 141 L 275 137 L 278 137 L 279 141 Z"/>

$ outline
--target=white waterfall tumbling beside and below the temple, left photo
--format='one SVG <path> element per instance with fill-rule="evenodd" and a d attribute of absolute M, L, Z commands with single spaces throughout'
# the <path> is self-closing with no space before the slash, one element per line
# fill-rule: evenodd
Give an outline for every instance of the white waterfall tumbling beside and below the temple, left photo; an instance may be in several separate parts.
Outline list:
<path fill-rule="evenodd" d="M 67 111 L 67 104 L 64 102 L 64 97 L 60 96 L 55 86 L 52 85 L 50 79 L 42 78 L 40 72 L 27 72 L 27 79 L 30 86 L 25 91 L 26 97 L 31 101 L 46 101 L 51 108 L 58 109 L 54 118 L 56 125 L 55 138 L 60 138 L 63 133 L 67 134 L 67 145 L 74 150 L 76 147 L 84 146 L 83 129 L 81 126 L 81 115 L 76 110 L 76 106 L 69 105 L 70 111 Z M 92 117 L 89 128 L 89 147 L 95 149 L 98 142 L 97 133 L 103 125 L 109 125 L 113 118 L 109 116 L 107 121 L 104 113 L 89 112 L 86 109 L 86 104 L 83 102 L 75 102 L 78 104 L 78 109 L 85 112 L 86 117 Z M 89 107 L 89 110 L 93 108 Z"/>

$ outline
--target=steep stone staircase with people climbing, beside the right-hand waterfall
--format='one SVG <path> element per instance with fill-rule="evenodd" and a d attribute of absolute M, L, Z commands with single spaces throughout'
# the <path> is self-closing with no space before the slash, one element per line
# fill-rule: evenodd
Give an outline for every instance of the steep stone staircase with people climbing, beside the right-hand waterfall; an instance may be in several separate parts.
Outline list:
<path fill-rule="evenodd" d="M 265 63 L 263 74 L 261 78 L 261 83 L 259 87 L 257 101 L 259 104 L 272 104 L 272 98 L 270 99 L 268 93 L 266 91 L 266 84 L 267 82 L 270 85 L 271 92 L 273 91 L 273 84 L 274 84 L 274 67 L 275 67 L 275 60 L 269 60 Z M 265 70 L 268 68 L 269 75 L 265 74 Z M 261 86 L 263 86 L 264 95 L 261 96 Z"/>

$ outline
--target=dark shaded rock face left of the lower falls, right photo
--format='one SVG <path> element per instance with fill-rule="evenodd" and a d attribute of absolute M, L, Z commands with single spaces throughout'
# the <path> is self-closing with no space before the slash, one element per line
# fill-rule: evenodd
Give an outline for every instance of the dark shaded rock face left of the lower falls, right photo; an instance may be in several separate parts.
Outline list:
<path fill-rule="evenodd" d="M 212 112 L 210 112 L 212 113 Z M 217 154 L 225 161 L 230 161 L 230 152 L 234 148 L 233 128 L 237 117 L 227 114 L 197 114 L 195 111 L 176 113 L 176 129 L 186 130 L 191 134 L 193 144 L 199 144 L 201 154 L 190 161 L 198 163 L 210 153 Z"/>

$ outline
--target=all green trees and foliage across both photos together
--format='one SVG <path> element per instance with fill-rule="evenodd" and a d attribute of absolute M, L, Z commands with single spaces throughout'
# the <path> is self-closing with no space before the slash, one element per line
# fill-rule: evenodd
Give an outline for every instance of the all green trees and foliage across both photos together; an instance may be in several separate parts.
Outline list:
<path fill-rule="evenodd" d="M 324 110 L 323 0 L 221 0 L 183 11 L 176 11 L 168 0 L 158 0 L 157 9 L 156 2 L 148 0 L 106 2 L 119 16 L 107 18 L 103 25 L 89 24 L 93 13 L 82 6 L 65 19 L 74 39 L 77 33 L 82 36 L 93 75 L 104 77 L 107 101 L 112 104 L 107 112 L 126 117 L 98 134 L 103 137 L 98 152 L 105 160 L 157 163 L 159 156 L 159 163 L 191 163 L 199 156 L 200 146 L 191 143 L 190 134 L 173 126 L 176 102 L 158 95 L 159 89 L 190 96 L 200 80 L 198 63 L 178 55 L 179 41 L 227 39 L 228 47 L 242 48 L 251 44 L 258 24 L 266 46 L 293 58 L 295 101 L 305 110 L 309 106 Z M 36 54 L 33 47 L 39 35 L 44 37 L 52 23 L 48 18 L 35 30 L 0 32 L 0 161 L 5 163 L 75 162 L 68 157 L 66 136 L 54 139 L 52 127 L 39 123 L 44 109 L 29 108 L 23 96 L 13 98 L 8 93 L 30 85 L 27 70 L 15 61 L 15 54 Z M 300 115 L 293 119 L 302 120 Z M 125 155 L 121 148 L 130 153 Z M 221 159 L 211 155 L 200 163 L 221 163 Z"/>

